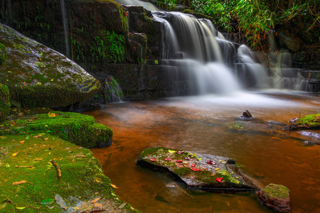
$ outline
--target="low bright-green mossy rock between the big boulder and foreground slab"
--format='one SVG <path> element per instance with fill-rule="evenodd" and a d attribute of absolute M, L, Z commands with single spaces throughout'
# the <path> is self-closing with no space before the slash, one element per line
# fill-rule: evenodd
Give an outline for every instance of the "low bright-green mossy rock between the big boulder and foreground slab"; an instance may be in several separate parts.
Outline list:
<path fill-rule="evenodd" d="M 50 133 L 78 146 L 90 148 L 110 146 L 113 132 L 109 127 L 97 124 L 93 116 L 62 111 L 50 111 L 49 114 L 23 114 L 4 121 L 0 126 L 0 136 L 31 133 Z"/>

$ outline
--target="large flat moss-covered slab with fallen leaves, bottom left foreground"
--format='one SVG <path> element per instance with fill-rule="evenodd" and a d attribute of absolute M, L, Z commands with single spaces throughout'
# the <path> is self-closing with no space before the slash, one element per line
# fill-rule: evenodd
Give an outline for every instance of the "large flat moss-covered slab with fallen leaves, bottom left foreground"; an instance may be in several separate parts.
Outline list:
<path fill-rule="evenodd" d="M 114 194 L 90 150 L 55 136 L 0 136 L 0 173 L 0 212 L 137 212 Z"/>

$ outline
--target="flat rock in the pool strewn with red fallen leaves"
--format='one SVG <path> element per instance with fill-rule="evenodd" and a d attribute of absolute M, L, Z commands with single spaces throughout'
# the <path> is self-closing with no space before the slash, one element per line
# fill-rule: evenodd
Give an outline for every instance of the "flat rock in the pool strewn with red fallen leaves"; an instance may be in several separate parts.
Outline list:
<path fill-rule="evenodd" d="M 221 156 L 157 147 L 145 149 L 137 163 L 169 173 L 192 189 L 213 192 L 260 189 L 257 182 L 235 165 L 235 160 Z"/>

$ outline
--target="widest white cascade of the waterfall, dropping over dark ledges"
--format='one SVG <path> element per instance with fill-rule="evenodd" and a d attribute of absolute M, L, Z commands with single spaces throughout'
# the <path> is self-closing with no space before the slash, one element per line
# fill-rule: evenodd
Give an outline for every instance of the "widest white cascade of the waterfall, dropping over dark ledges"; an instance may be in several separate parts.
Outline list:
<path fill-rule="evenodd" d="M 216 39 L 213 24 L 178 12 L 154 12 L 163 24 L 161 65 L 173 82 L 169 95 L 225 94 L 240 89 L 220 47 L 235 50 L 227 40 Z"/>

